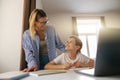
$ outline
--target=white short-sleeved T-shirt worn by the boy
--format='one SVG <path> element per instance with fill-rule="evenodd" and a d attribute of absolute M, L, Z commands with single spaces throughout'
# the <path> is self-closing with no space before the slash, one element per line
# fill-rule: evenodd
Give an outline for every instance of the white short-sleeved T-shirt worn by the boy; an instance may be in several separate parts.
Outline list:
<path fill-rule="evenodd" d="M 88 63 L 90 60 L 90 58 L 88 58 L 87 56 L 81 54 L 81 53 L 78 53 L 76 55 L 76 59 L 75 60 L 72 60 L 69 58 L 68 54 L 67 53 L 63 53 L 61 55 L 59 55 L 58 57 L 56 57 L 53 61 L 56 63 L 56 64 L 65 64 L 65 63 L 74 63 L 76 61 L 79 61 L 81 63 Z"/>

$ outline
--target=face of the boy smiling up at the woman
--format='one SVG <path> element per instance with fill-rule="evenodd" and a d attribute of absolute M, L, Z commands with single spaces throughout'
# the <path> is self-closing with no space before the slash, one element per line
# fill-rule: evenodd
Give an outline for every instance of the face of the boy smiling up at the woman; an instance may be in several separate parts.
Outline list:
<path fill-rule="evenodd" d="M 74 51 L 74 50 L 77 50 L 78 46 L 75 45 L 75 39 L 74 38 L 69 38 L 68 41 L 66 42 L 65 44 L 65 49 L 67 51 Z"/>

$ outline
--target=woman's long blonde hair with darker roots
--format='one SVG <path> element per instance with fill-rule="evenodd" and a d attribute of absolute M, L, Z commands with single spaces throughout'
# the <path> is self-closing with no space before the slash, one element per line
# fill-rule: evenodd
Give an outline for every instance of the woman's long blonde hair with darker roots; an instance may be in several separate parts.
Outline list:
<path fill-rule="evenodd" d="M 34 9 L 32 13 L 30 14 L 29 18 L 29 31 L 30 31 L 30 36 L 32 39 L 35 38 L 35 21 L 38 21 L 41 17 L 47 17 L 46 13 L 42 9 Z"/>

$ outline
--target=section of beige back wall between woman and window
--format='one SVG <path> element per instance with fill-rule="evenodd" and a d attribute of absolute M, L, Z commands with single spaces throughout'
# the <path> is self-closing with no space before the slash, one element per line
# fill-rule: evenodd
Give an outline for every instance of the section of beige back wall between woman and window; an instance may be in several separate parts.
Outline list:
<path fill-rule="evenodd" d="M 53 25 L 63 42 L 72 34 L 72 19 L 69 14 L 48 14 L 49 24 Z"/>

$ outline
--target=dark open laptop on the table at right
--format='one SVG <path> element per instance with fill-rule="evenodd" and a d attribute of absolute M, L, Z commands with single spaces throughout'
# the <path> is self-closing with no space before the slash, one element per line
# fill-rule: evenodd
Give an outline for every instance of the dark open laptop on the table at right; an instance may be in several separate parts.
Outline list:
<path fill-rule="evenodd" d="M 75 72 L 90 76 L 120 75 L 120 29 L 100 29 L 94 68 Z"/>

